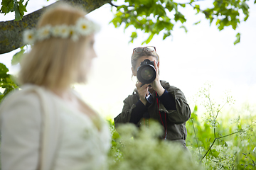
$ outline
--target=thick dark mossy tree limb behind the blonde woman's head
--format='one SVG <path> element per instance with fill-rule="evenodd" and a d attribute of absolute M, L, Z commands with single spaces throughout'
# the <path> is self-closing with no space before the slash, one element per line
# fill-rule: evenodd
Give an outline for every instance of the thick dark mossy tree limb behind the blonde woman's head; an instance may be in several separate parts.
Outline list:
<path fill-rule="evenodd" d="M 36 1 L 36 0 L 35 0 Z M 87 13 L 100 8 L 100 6 L 111 2 L 111 0 L 61 0 L 68 1 L 71 4 L 78 4 L 83 6 Z M 55 3 L 58 3 L 55 2 Z M 0 22 L 0 54 L 6 52 L 11 52 L 16 50 L 18 47 L 23 46 L 23 30 L 31 29 L 36 27 L 38 18 L 41 16 L 41 13 L 48 8 L 48 6 L 29 13 L 26 16 L 23 16 L 21 21 L 2 21 Z"/>

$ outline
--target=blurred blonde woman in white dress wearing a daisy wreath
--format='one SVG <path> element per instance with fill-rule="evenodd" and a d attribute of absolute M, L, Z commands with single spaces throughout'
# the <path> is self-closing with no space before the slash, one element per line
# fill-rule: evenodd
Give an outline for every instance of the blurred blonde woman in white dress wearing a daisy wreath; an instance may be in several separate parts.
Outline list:
<path fill-rule="evenodd" d="M 21 90 L 0 106 L 1 169 L 107 169 L 110 132 L 70 88 L 86 80 L 96 57 L 97 26 L 85 12 L 58 4 L 43 13 L 21 62 Z"/>

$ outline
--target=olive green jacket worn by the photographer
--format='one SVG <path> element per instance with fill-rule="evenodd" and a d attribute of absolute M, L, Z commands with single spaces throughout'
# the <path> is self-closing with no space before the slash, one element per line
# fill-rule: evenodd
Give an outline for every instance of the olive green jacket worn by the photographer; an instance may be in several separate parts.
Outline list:
<path fill-rule="evenodd" d="M 159 108 L 156 102 L 156 94 L 151 94 L 154 98 L 154 102 L 148 107 L 148 113 L 151 119 L 155 119 L 159 121 L 161 124 L 161 118 L 159 115 L 159 111 L 166 113 L 166 129 L 167 129 L 167 140 L 186 140 L 186 121 L 191 117 L 191 110 L 188 106 L 186 98 L 183 92 L 176 88 L 175 86 L 170 86 L 170 84 L 166 81 L 161 81 L 161 86 L 166 89 L 166 91 L 174 97 L 176 102 L 176 111 L 175 110 L 166 110 L 164 104 L 159 100 Z M 139 101 L 139 94 L 137 93 L 137 89 L 134 90 L 132 95 L 129 95 L 124 99 L 124 106 L 122 109 L 122 113 L 117 115 L 114 118 L 114 124 L 117 125 L 121 123 L 129 123 L 131 118 L 132 109 L 136 107 L 136 103 Z M 139 126 L 140 123 L 138 123 Z M 164 137 L 164 135 L 163 135 Z M 185 143 L 186 145 L 186 143 Z"/>

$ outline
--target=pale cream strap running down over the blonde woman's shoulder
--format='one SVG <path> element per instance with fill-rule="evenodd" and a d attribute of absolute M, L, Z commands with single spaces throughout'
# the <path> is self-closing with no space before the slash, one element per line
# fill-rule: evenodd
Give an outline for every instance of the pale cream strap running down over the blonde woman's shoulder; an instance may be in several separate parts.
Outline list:
<path fill-rule="evenodd" d="M 60 116 L 50 92 L 38 86 L 26 86 L 23 91 L 33 91 L 38 94 L 42 108 L 42 140 L 39 170 L 53 169 L 58 140 L 60 139 Z"/>

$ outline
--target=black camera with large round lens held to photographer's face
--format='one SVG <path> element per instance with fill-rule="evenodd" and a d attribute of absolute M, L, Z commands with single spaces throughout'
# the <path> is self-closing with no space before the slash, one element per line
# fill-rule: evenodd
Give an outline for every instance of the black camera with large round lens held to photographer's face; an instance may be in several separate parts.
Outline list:
<path fill-rule="evenodd" d="M 156 79 L 154 62 L 148 59 L 141 62 L 140 67 L 137 69 L 137 79 L 142 82 L 142 84 L 150 84 L 154 81 L 154 79 Z"/>

